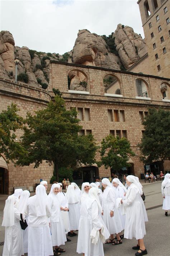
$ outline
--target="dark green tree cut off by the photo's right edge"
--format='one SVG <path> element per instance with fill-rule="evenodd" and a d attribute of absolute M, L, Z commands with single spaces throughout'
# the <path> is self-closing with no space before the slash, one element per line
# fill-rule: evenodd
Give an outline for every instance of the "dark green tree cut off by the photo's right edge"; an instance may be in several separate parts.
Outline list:
<path fill-rule="evenodd" d="M 145 132 L 140 147 L 143 163 L 170 160 L 170 111 L 149 109 L 143 121 Z"/>

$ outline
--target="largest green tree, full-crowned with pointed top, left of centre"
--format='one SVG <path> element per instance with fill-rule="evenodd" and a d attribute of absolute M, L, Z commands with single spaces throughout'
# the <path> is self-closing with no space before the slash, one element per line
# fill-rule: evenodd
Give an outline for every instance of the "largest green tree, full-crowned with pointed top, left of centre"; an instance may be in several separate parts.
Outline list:
<path fill-rule="evenodd" d="M 34 163 L 36 168 L 43 160 L 49 165 L 53 163 L 58 181 L 59 168 L 72 167 L 77 162 L 94 163 L 97 150 L 94 138 L 91 134 L 78 135 L 81 126 L 76 116 L 76 109 L 66 110 L 60 95 L 56 95 L 54 101 L 50 101 L 46 109 L 37 111 L 36 115 L 28 113 L 22 136 L 22 145 L 28 154 L 22 156 L 17 164 Z"/>

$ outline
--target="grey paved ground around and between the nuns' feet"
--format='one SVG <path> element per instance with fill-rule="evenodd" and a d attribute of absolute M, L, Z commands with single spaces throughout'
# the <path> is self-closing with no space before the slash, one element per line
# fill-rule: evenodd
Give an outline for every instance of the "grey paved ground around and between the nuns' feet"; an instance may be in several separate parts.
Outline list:
<path fill-rule="evenodd" d="M 146 222 L 146 236 L 144 238 L 145 245 L 150 256 L 170 255 L 170 211 L 165 216 L 162 210 L 162 194 L 161 181 L 153 183 L 145 183 L 141 181 L 143 191 L 146 195 L 145 206 L 149 221 Z M 3 209 L 7 195 L 0 195 L 0 219 L 3 216 Z M 78 232 L 77 232 L 78 233 Z M 4 227 L 0 224 L 0 242 L 4 241 Z M 112 244 L 104 244 L 104 255 L 112 256 L 134 256 L 136 251 L 132 250 L 132 246 L 136 245 L 136 239 L 123 239 L 123 244 L 112 246 Z M 71 242 L 66 242 L 65 246 L 61 246 L 66 250 L 62 256 L 77 255 L 76 253 L 77 237 L 71 237 Z M 0 255 L 2 255 L 3 246 L 0 246 Z M 27 254 L 25 254 L 26 256 Z M 38 255 L 41 256 L 41 255 Z"/>

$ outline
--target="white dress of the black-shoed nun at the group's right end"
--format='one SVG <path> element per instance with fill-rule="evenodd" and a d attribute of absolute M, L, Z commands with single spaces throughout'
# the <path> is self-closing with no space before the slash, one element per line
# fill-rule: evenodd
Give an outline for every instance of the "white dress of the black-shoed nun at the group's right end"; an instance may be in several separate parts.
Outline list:
<path fill-rule="evenodd" d="M 145 219 L 141 204 L 141 195 L 135 184 L 128 188 L 123 206 L 126 207 L 126 224 L 124 228 L 124 238 L 142 239 L 146 235 Z"/>

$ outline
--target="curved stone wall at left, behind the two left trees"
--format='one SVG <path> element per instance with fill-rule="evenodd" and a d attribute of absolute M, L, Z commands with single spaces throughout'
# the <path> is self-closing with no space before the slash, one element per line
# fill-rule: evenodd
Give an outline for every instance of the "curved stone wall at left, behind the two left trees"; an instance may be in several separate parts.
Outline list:
<path fill-rule="evenodd" d="M 51 100 L 51 95 L 38 87 L 0 79 L 0 99 L 0 111 L 7 109 L 11 103 L 15 103 L 20 109 L 18 114 L 25 118 L 27 112 L 33 114 L 35 111 L 46 107 L 47 102 Z M 16 134 L 19 141 L 22 133 L 17 131 Z M 33 166 L 31 164 L 24 167 L 14 167 L 13 163 L 9 163 L 8 172 L 5 171 L 4 176 L 4 192 L 13 193 L 15 186 L 35 187 L 41 178 L 49 183 L 53 175 L 53 167 L 49 167 L 45 162 L 36 169 Z"/>

